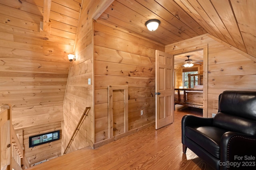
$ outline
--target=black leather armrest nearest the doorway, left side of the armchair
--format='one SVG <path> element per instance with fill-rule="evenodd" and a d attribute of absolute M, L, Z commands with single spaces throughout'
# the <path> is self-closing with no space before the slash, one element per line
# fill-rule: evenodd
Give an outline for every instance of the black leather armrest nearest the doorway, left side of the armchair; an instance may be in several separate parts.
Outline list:
<path fill-rule="evenodd" d="M 181 120 L 182 143 L 184 144 L 184 130 L 186 126 L 212 126 L 213 118 L 184 115 Z"/>

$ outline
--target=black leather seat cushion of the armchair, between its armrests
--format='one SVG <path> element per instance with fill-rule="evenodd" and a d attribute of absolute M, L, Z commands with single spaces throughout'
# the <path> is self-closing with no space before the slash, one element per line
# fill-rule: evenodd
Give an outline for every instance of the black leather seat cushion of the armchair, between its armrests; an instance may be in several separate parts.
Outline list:
<path fill-rule="evenodd" d="M 185 135 L 189 139 L 217 158 L 220 158 L 220 141 L 225 132 L 227 130 L 218 127 L 185 127 Z"/>

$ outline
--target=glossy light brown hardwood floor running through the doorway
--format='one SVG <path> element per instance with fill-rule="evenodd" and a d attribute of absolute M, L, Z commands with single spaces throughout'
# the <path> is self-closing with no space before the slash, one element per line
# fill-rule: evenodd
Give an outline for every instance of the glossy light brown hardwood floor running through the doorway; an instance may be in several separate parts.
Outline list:
<path fill-rule="evenodd" d="M 97 149 L 76 150 L 29 170 L 213 170 L 191 150 L 182 153 L 181 119 L 186 114 L 202 116 L 202 111 L 176 107 L 174 123 L 161 129 L 148 127 Z"/>

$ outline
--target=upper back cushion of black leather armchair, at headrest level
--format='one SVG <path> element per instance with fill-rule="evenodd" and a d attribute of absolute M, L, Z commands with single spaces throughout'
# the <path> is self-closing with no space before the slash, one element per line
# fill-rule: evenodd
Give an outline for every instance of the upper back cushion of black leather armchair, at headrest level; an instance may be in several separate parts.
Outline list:
<path fill-rule="evenodd" d="M 224 91 L 220 97 L 219 111 L 256 120 L 256 92 Z"/>

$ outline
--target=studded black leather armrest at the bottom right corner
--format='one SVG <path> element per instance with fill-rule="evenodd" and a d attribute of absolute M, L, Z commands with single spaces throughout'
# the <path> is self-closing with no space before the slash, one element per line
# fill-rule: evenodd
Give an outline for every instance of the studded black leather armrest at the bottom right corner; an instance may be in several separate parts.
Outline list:
<path fill-rule="evenodd" d="M 256 137 L 236 132 L 226 132 L 220 143 L 220 163 L 236 162 L 235 168 L 256 169 Z M 223 164 L 224 165 L 224 164 Z M 226 169 L 224 165 L 220 169 Z M 232 167 L 233 168 L 233 167 Z M 239 169 L 239 168 L 238 168 Z"/>

